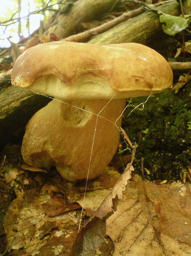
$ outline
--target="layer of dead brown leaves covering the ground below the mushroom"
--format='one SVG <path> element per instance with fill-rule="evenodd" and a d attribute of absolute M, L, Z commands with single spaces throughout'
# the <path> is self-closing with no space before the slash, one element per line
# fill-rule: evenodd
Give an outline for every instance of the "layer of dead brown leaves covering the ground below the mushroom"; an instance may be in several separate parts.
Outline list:
<path fill-rule="evenodd" d="M 5 176 L 11 173 L 9 183 L 23 175 L 15 165 L 3 169 Z M 190 255 L 189 185 L 156 185 L 137 175 L 130 182 L 131 171 L 132 163 L 121 176 L 106 168 L 82 200 L 81 184 L 59 176 L 44 184 L 35 170 L 34 180 L 42 184 L 18 189 L 4 219 L 12 255 Z M 78 233 L 79 205 L 91 218 Z"/>

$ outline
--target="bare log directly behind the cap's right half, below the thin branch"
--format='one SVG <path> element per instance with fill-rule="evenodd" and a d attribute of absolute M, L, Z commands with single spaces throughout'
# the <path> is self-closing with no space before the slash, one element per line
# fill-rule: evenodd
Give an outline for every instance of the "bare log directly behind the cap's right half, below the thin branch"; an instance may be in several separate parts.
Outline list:
<path fill-rule="evenodd" d="M 191 8 L 191 0 L 188 0 L 188 5 Z M 176 1 L 157 7 L 158 10 L 175 16 L 180 15 L 179 8 L 180 6 Z M 164 36 L 165 33 L 162 31 L 159 16 L 149 11 L 124 21 L 100 35 L 95 35 L 89 43 L 106 45 L 136 42 L 148 45 L 154 38 L 160 37 L 162 40 Z"/>

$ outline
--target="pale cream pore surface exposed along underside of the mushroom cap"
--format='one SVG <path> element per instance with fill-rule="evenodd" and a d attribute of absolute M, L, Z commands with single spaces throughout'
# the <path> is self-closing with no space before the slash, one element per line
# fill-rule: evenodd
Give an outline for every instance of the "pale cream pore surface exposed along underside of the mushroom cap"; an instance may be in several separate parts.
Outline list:
<path fill-rule="evenodd" d="M 140 79 L 140 78 L 139 78 Z M 144 83 L 143 83 L 144 84 Z M 54 86 L 52 86 L 54 85 Z M 120 99 L 145 96 L 150 93 L 160 93 L 164 90 L 131 90 L 127 92 L 117 92 L 109 85 L 108 81 L 86 75 L 79 77 L 72 86 L 61 82 L 60 79 L 53 75 L 47 75 L 36 80 L 32 85 L 25 89 L 38 92 L 40 94 L 60 98 L 63 100 L 78 100 L 78 99 Z"/>

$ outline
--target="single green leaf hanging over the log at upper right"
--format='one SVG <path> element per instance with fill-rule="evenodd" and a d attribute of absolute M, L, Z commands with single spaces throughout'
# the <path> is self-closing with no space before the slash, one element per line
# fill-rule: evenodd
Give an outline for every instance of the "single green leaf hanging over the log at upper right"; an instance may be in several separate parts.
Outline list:
<path fill-rule="evenodd" d="M 178 32 L 188 27 L 187 21 L 183 17 L 172 16 L 168 14 L 160 15 L 160 22 L 162 24 L 163 31 L 170 36 L 176 35 Z"/>

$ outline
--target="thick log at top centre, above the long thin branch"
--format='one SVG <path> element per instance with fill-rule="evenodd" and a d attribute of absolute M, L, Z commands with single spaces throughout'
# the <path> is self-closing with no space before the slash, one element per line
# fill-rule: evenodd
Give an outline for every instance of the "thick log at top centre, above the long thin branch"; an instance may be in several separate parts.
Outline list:
<path fill-rule="evenodd" d="M 68 37 L 82 21 L 89 21 L 107 13 L 115 2 L 116 0 L 78 0 L 68 11 L 60 10 L 44 36 L 47 37 L 47 41 L 50 40 L 51 33 L 54 33 L 59 40 Z"/>

